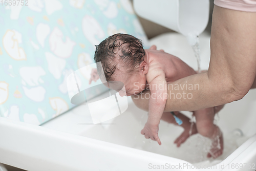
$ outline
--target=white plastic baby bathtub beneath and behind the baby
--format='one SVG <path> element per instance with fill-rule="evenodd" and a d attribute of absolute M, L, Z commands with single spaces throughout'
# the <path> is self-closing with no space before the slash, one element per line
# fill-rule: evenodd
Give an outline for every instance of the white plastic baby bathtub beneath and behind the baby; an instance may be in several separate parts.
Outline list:
<path fill-rule="evenodd" d="M 151 44 L 197 68 L 185 37 L 165 34 L 152 39 Z M 202 69 L 207 69 L 207 35 L 201 36 L 200 46 Z M 226 104 L 216 117 L 224 134 L 224 153 L 216 160 L 206 158 L 203 149 L 208 142 L 199 135 L 175 147 L 173 142 L 182 129 L 163 121 L 159 125 L 162 145 L 145 139 L 140 131 L 147 113 L 138 109 L 130 97 L 127 111 L 96 125 L 87 105 L 41 126 L 0 118 L 0 130 L 5 130 L 0 131 L 0 160 L 27 170 L 199 170 L 206 165 L 211 166 L 209 170 L 256 170 L 255 97 L 256 90 L 250 91 L 242 100 Z M 161 165 L 164 168 L 157 169 Z"/>

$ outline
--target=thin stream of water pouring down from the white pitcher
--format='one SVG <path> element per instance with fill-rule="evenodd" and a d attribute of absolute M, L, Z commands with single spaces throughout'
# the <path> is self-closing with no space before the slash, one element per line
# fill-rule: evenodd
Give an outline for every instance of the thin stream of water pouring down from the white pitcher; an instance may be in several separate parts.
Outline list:
<path fill-rule="evenodd" d="M 201 66 L 200 66 L 201 58 L 200 58 L 200 48 L 199 48 L 199 36 L 196 34 L 189 34 L 187 36 L 187 40 L 195 53 L 195 56 L 197 59 L 198 73 L 200 73 L 201 72 Z"/>

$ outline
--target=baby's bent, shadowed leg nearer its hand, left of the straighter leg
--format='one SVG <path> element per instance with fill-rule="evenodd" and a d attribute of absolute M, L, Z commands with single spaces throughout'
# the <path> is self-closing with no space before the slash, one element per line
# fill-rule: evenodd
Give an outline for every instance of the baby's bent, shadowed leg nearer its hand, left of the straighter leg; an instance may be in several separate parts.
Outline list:
<path fill-rule="evenodd" d="M 190 130 L 191 124 L 189 122 L 189 118 L 183 115 L 182 113 L 180 112 L 174 112 L 174 113 L 178 118 L 182 120 L 182 124 L 180 126 L 183 127 L 184 129 L 183 133 L 174 141 L 174 143 L 176 143 L 177 146 L 179 147 L 190 136 L 189 130 Z M 168 123 L 173 123 L 175 125 L 178 125 L 178 123 L 175 121 L 174 116 L 170 114 L 170 112 L 164 112 L 161 119 Z M 197 134 L 197 128 L 195 124 L 193 125 L 192 132 L 191 132 L 191 135 L 193 134 Z"/>

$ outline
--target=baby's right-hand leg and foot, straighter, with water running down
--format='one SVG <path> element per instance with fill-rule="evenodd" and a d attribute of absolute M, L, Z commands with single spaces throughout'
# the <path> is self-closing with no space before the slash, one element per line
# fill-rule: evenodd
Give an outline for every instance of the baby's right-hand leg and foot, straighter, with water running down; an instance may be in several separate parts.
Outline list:
<path fill-rule="evenodd" d="M 215 107 L 218 108 L 218 107 Z M 207 157 L 217 158 L 223 152 L 223 136 L 217 125 L 214 124 L 215 108 L 207 108 L 194 112 L 198 133 L 211 139 L 211 149 Z M 219 110 L 219 108 L 218 108 Z"/>

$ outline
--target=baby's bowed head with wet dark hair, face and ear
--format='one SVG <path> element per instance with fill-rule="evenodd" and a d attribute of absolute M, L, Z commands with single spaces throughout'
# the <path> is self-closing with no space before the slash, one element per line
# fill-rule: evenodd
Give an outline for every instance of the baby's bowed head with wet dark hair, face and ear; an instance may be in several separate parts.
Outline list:
<path fill-rule="evenodd" d="M 147 60 L 140 39 L 129 34 L 114 34 L 103 40 L 94 55 L 101 62 L 106 81 L 124 83 L 126 95 L 145 89 Z"/>

